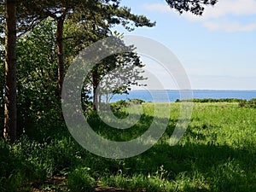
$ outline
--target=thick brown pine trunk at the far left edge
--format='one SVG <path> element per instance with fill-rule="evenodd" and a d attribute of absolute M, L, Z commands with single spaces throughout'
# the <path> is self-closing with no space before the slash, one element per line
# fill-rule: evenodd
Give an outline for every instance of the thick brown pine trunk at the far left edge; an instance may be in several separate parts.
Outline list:
<path fill-rule="evenodd" d="M 16 1 L 6 1 L 5 26 L 5 103 L 3 137 L 15 143 L 16 108 Z"/>

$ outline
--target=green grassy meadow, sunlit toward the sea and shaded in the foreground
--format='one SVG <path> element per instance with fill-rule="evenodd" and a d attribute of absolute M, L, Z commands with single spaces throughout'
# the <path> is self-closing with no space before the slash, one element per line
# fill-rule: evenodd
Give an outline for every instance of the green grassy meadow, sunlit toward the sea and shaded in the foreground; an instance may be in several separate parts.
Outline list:
<path fill-rule="evenodd" d="M 154 104 L 166 106 L 143 102 L 143 116 L 128 130 L 111 129 L 96 113 L 89 115 L 89 123 L 102 137 L 128 141 L 148 129 Z M 168 141 L 179 105 L 172 103 L 171 114 L 163 111 L 156 117 L 170 118 L 159 142 L 129 159 L 90 154 L 67 129 L 44 142 L 28 137 L 13 146 L 1 142 L 0 191 L 255 191 L 256 108 L 241 108 L 237 102 L 195 102 L 187 131 L 171 147 Z M 126 115 L 125 108 L 114 113 Z"/>

